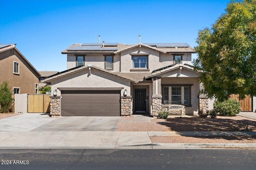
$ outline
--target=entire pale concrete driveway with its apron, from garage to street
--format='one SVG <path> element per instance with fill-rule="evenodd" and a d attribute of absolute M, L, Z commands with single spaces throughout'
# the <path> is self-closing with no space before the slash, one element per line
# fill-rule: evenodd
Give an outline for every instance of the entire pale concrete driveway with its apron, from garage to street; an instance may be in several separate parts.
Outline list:
<path fill-rule="evenodd" d="M 117 132 L 120 117 L 49 117 L 25 113 L 0 119 L 0 149 L 152 149 L 148 132 Z M 144 147 L 145 149 L 145 147 Z"/>

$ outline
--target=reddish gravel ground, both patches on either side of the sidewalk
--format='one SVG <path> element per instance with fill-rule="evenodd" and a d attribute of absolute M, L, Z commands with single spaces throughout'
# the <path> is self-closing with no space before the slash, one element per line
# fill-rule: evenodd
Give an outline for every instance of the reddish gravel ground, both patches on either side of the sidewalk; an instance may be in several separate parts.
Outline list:
<path fill-rule="evenodd" d="M 122 123 L 130 119 L 132 123 Z M 134 122 L 133 115 L 121 117 L 116 131 L 256 131 L 256 120 L 242 116 L 217 119 L 184 117 Z M 256 143 L 256 136 L 152 136 L 152 143 Z"/>

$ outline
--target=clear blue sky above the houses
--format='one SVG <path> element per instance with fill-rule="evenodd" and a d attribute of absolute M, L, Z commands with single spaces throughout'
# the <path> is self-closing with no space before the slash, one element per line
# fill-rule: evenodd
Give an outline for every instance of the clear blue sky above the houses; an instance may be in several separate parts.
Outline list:
<path fill-rule="evenodd" d="M 16 47 L 38 71 L 66 70 L 74 43 L 188 43 L 230 0 L 0 0 L 0 43 Z M 192 58 L 195 58 L 193 55 Z"/>

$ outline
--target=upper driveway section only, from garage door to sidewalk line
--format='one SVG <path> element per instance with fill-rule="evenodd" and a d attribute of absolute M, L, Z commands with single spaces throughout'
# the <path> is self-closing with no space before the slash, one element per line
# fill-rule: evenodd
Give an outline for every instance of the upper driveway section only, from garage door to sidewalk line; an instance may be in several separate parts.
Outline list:
<path fill-rule="evenodd" d="M 116 131 L 120 117 L 49 117 L 25 113 L 0 120 L 0 131 Z"/>

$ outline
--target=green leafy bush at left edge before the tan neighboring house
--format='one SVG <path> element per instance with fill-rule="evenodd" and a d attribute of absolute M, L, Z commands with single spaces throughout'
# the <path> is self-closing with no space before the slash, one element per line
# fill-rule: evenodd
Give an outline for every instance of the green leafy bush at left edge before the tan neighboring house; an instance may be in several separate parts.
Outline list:
<path fill-rule="evenodd" d="M 9 83 L 7 81 L 0 84 L 0 106 L 1 112 L 9 112 L 12 109 L 12 102 L 14 99 L 12 98 L 12 91 L 9 87 Z"/>

